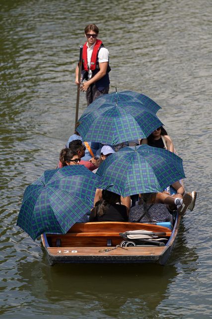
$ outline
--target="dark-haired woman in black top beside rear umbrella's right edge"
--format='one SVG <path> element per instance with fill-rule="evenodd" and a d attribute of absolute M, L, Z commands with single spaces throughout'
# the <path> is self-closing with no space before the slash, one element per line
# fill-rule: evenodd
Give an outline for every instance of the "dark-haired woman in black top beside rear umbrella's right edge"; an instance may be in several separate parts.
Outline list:
<path fill-rule="evenodd" d="M 162 126 L 154 130 L 147 139 L 142 139 L 140 144 L 148 144 L 155 148 L 166 149 L 170 152 L 174 152 L 172 140 Z"/>

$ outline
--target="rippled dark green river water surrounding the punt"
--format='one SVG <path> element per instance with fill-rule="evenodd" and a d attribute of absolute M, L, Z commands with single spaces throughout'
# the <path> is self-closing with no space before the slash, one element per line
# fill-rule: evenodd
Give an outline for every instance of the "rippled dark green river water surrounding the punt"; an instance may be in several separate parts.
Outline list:
<path fill-rule="evenodd" d="M 0 316 L 212 318 L 211 78 L 208 0 L 0 0 Z M 83 29 L 110 51 L 111 89 L 157 102 L 198 191 L 171 259 L 156 265 L 48 265 L 16 220 L 25 187 L 54 168 L 73 132 Z M 80 96 L 79 115 L 85 108 Z"/>

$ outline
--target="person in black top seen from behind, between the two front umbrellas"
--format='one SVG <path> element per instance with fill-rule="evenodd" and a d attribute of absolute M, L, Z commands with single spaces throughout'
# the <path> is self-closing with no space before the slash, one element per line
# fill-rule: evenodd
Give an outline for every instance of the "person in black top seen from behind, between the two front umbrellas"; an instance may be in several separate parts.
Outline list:
<path fill-rule="evenodd" d="M 89 221 L 128 221 L 127 207 L 121 205 L 121 196 L 102 190 L 102 198 L 91 210 Z"/>

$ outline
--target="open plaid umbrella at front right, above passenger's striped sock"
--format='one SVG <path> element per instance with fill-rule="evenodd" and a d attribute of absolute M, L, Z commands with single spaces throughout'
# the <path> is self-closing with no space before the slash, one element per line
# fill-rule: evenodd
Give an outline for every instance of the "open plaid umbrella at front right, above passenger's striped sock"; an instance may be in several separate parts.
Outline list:
<path fill-rule="evenodd" d="M 182 159 L 148 145 L 123 148 L 104 160 L 96 173 L 102 176 L 99 188 L 122 196 L 160 192 L 185 177 Z"/>

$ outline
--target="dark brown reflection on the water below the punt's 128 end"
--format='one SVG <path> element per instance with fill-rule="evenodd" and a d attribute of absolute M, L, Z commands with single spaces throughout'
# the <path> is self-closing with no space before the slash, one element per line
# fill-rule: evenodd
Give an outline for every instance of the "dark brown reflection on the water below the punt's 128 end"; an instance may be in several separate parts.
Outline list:
<path fill-rule="evenodd" d="M 25 279 L 21 290 L 28 291 L 31 298 L 40 299 L 43 296 L 38 311 L 47 311 L 45 305 L 48 303 L 55 305 L 52 314 L 68 315 L 73 308 L 72 315 L 79 315 L 84 305 L 84 315 L 87 311 L 89 313 L 90 308 L 116 317 L 130 307 L 135 318 L 137 308 L 140 316 L 141 308 L 143 315 L 145 311 L 153 314 L 165 298 L 167 286 L 177 276 L 174 266 L 55 265 L 49 269 L 45 260 L 40 264 L 21 263 L 18 273 Z M 76 304 L 80 305 L 80 311 L 74 309 Z M 62 313 L 61 309 L 64 309 Z"/>

